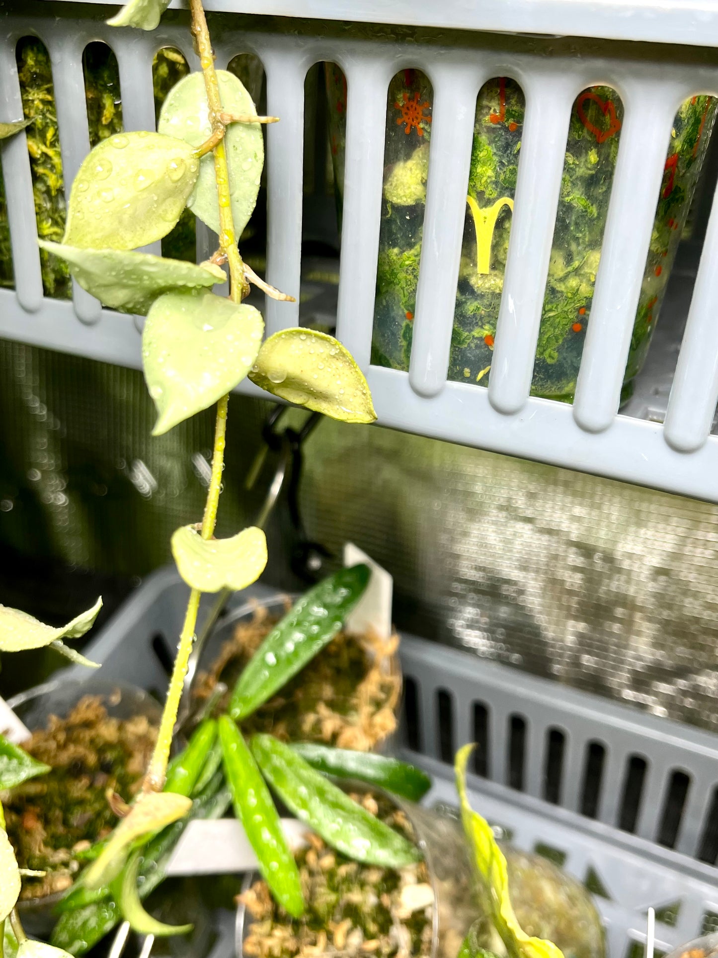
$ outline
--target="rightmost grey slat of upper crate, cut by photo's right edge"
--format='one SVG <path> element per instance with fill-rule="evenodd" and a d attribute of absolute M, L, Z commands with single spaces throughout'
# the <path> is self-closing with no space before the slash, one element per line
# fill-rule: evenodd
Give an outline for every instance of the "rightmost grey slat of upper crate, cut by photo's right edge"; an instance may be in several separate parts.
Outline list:
<path fill-rule="evenodd" d="M 718 402 L 718 191 L 708 219 L 696 285 L 685 323 L 663 435 L 679 452 L 705 445 Z"/>

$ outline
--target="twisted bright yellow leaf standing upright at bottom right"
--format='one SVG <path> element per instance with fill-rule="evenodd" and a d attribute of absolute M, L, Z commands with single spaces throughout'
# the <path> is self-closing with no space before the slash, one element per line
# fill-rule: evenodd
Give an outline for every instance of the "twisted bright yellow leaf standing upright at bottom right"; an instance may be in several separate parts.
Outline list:
<path fill-rule="evenodd" d="M 466 763 L 473 748 L 473 745 L 464 745 L 457 752 L 457 790 L 461 800 L 463 831 L 473 849 L 476 870 L 488 891 L 494 926 L 509 955 L 519 955 L 520 958 L 563 958 L 563 952 L 553 942 L 529 937 L 516 920 L 508 895 L 508 871 L 504 853 L 494 838 L 491 826 L 478 812 L 472 810 L 466 797 Z"/>

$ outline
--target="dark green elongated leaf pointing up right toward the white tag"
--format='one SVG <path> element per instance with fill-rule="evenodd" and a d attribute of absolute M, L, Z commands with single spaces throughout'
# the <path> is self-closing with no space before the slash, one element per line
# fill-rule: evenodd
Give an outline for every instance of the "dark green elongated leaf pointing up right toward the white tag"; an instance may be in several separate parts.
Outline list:
<path fill-rule="evenodd" d="M 239 676 L 230 700 L 245 719 L 323 650 L 361 599 L 370 578 L 363 563 L 340 569 L 305 592 L 272 629 Z"/>

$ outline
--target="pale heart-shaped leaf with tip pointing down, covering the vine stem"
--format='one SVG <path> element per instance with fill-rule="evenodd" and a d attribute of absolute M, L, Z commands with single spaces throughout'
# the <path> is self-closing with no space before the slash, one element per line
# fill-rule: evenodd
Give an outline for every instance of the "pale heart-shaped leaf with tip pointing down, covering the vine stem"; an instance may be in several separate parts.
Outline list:
<path fill-rule="evenodd" d="M 258 309 L 213 293 L 167 293 L 156 300 L 142 337 L 147 389 L 160 414 L 152 435 L 234 389 L 257 358 L 263 330 Z"/>

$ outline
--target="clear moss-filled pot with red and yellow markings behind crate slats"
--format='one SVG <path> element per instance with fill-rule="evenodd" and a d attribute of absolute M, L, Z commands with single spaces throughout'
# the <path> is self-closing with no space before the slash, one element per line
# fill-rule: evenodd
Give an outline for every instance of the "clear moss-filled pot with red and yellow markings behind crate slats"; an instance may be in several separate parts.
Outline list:
<path fill-rule="evenodd" d="M 342 192 L 346 86 L 326 68 L 335 183 Z M 431 140 L 432 89 L 404 70 L 389 90 L 384 191 L 371 362 L 408 370 Z M 715 119 L 716 100 L 680 108 L 665 165 L 622 399 L 632 392 L 662 306 Z M 623 107 L 609 87 L 585 90 L 572 107 L 531 392 L 571 400 L 590 322 L 595 276 L 616 167 Z M 504 285 L 525 100 L 513 80 L 490 80 L 477 102 L 449 379 L 487 384 Z"/>

